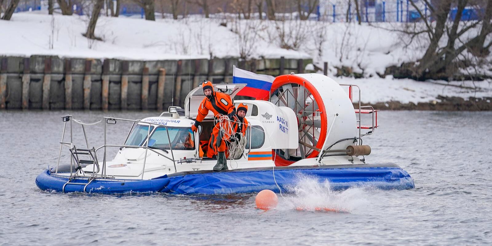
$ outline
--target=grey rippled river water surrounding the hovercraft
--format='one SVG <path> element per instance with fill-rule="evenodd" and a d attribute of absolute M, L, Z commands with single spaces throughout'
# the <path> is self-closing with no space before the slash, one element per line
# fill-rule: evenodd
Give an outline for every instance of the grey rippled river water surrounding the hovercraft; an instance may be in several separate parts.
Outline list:
<path fill-rule="evenodd" d="M 71 112 L 142 119 L 155 112 Z M 0 112 L 0 245 L 491 245 L 492 113 L 380 112 L 364 144 L 368 163 L 394 162 L 415 189 L 351 188 L 303 180 L 276 210 L 254 194 L 94 195 L 40 191 L 35 177 L 56 165 L 65 111 Z M 118 125 L 118 124 L 117 124 Z M 108 128 L 108 142 L 130 127 Z M 74 134 L 80 138 L 80 125 Z M 102 126 L 87 127 L 102 145 Z M 114 142 L 113 142 L 114 143 Z M 67 152 L 65 149 L 64 152 Z M 66 154 L 63 154 L 67 158 Z M 295 206 L 346 213 L 300 212 Z"/>

